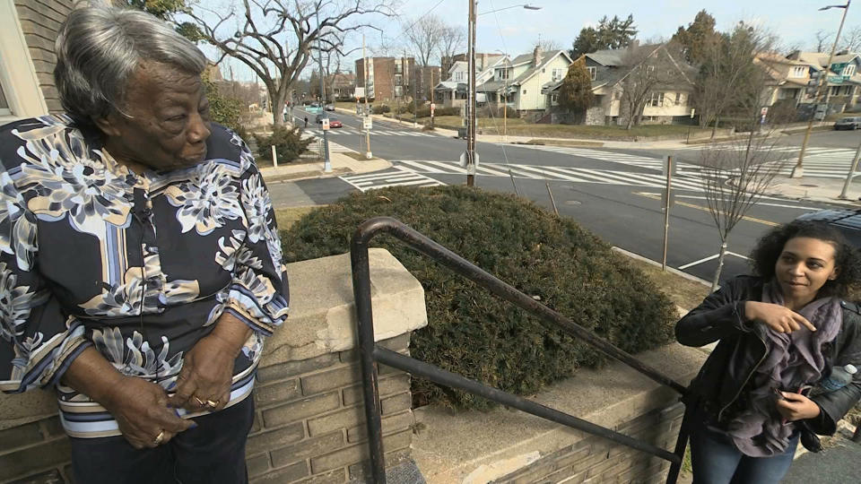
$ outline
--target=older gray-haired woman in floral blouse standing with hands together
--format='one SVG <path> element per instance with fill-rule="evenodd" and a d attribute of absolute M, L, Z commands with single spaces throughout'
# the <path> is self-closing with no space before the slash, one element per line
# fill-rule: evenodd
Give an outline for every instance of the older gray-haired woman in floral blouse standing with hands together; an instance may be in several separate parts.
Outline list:
<path fill-rule="evenodd" d="M 0 127 L 0 389 L 56 387 L 78 482 L 248 480 L 287 281 L 205 66 L 146 13 L 75 10 L 57 38 L 68 116 Z"/>

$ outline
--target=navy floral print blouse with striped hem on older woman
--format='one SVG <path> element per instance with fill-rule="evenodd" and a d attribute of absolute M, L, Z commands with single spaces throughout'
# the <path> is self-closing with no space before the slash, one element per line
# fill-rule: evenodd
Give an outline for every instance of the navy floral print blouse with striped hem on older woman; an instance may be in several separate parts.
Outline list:
<path fill-rule="evenodd" d="M 0 127 L 0 390 L 57 387 L 71 436 L 117 435 L 59 385 L 93 346 L 169 392 L 183 354 L 230 313 L 254 332 L 230 404 L 248 396 L 263 338 L 287 316 L 274 212 L 254 157 L 212 126 L 207 160 L 136 175 L 67 117 Z"/>

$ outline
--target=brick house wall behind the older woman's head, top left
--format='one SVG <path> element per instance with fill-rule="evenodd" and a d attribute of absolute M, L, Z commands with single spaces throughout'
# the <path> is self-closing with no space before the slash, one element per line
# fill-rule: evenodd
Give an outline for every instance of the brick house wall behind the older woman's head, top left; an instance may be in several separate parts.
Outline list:
<path fill-rule="evenodd" d="M 54 84 L 54 40 L 65 17 L 72 11 L 73 0 L 15 0 L 18 20 L 24 40 L 30 49 L 30 58 L 39 78 L 39 89 L 51 112 L 63 110 Z"/>

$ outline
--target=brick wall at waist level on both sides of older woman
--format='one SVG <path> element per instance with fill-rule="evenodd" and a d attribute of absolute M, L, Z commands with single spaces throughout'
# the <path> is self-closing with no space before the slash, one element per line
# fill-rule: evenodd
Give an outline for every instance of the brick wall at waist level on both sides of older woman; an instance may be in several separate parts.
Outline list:
<path fill-rule="evenodd" d="M 405 333 L 381 344 L 408 354 L 409 338 Z M 259 368 L 247 447 L 252 483 L 334 483 L 365 475 L 368 445 L 356 357 L 349 350 Z M 380 366 L 379 373 L 383 448 L 392 466 L 410 454 L 410 380 L 391 367 Z M 74 482 L 57 416 L 0 430 L 0 483 L 19 481 Z"/>

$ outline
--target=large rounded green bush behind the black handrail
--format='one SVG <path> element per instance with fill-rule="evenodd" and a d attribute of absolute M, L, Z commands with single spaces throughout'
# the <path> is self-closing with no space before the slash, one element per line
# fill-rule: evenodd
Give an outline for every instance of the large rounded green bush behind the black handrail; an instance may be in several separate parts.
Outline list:
<path fill-rule="evenodd" d="M 642 272 L 574 221 L 513 195 L 465 186 L 351 194 L 283 231 L 285 259 L 348 252 L 356 227 L 378 216 L 403 221 L 622 350 L 671 340 L 674 306 Z M 604 362 L 585 342 L 546 329 L 396 239 L 379 236 L 372 246 L 395 255 L 424 287 L 428 326 L 413 333 L 414 358 L 521 395 Z M 491 406 L 420 378 L 413 379 L 413 397 L 417 405 Z"/>

